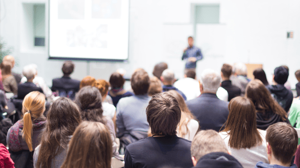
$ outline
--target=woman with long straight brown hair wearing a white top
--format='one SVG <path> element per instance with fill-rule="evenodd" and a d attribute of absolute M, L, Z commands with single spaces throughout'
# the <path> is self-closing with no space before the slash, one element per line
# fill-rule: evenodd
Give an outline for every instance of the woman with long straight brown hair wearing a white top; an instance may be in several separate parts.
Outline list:
<path fill-rule="evenodd" d="M 244 168 L 254 168 L 259 161 L 269 164 L 266 131 L 256 128 L 256 110 L 253 102 L 238 96 L 229 102 L 228 109 L 226 127 L 219 134 L 231 155 Z"/>

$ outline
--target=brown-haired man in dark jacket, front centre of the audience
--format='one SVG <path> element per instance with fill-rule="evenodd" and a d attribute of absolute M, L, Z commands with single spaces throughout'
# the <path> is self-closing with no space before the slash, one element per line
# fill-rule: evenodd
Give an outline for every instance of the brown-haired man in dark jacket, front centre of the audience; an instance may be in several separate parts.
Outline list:
<path fill-rule="evenodd" d="M 153 95 L 146 114 L 152 137 L 127 146 L 125 168 L 191 168 L 191 142 L 176 136 L 181 111 L 175 97 Z"/>

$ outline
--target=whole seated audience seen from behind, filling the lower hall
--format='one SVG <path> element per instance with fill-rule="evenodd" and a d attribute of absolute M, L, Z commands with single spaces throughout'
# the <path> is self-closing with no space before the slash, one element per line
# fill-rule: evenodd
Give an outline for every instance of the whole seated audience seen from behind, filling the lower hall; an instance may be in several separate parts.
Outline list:
<path fill-rule="evenodd" d="M 1 82 L 6 92 L 13 92 L 10 85 L 18 84 L 20 76 L 11 73 L 13 57 L 4 58 Z M 185 71 L 184 78 L 175 82 L 174 72 L 162 62 L 155 65 L 152 78 L 144 69 L 135 70 L 130 79 L 134 93 L 125 90 L 125 79 L 118 72 L 109 82 L 92 76 L 80 82 L 70 78 L 73 71 L 73 62 L 65 61 L 64 76 L 53 79 L 51 89 L 61 98 L 55 98 L 46 118 L 42 92 L 47 87 L 50 100 L 55 93 L 37 77 L 36 65 L 23 68 L 24 78 L 15 93 L 24 98 L 23 118 L 12 125 L 7 114 L 0 116 L 0 138 L 6 138 L 10 153 L 2 142 L 0 166 L 115 168 L 116 160 L 125 168 L 300 165 L 300 150 L 292 159 L 298 144 L 292 126 L 300 128 L 300 100 L 292 103 L 293 94 L 284 85 L 289 77 L 286 66 L 275 69 L 273 85 L 263 69 L 254 70 L 255 79 L 250 81 L 242 63 L 223 64 L 221 75 L 204 70 L 200 81 L 194 71 Z M 295 76 L 300 82 L 300 71 Z M 2 108 L 9 101 L 3 92 Z"/>

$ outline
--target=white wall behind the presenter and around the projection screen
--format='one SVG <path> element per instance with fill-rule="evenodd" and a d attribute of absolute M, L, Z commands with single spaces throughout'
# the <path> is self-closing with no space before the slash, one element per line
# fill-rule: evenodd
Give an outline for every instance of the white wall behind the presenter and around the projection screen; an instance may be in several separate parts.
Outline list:
<path fill-rule="evenodd" d="M 35 63 L 39 76 L 51 85 L 53 78 L 61 76 L 63 61 L 48 60 L 48 0 L 4 1 L 6 16 L 0 22 L 0 36 L 14 47 L 12 55 L 18 61 L 14 71 L 21 72 L 24 65 Z M 28 46 L 28 23 L 32 20 L 25 20 L 22 3 L 45 3 L 45 48 Z M 130 75 L 141 67 L 151 74 L 153 66 L 164 61 L 176 78 L 181 78 L 185 64 L 182 50 L 194 32 L 191 3 L 220 4 L 220 24 L 196 26 L 196 45 L 204 55 L 197 63 L 198 74 L 206 68 L 220 71 L 223 63 L 258 63 L 264 65 L 271 80 L 276 67 L 288 65 L 289 81 L 295 87 L 294 73 L 300 69 L 299 0 L 131 0 L 128 62 L 91 62 L 88 70 L 86 62 L 75 61 L 72 77 L 82 79 L 90 72 L 95 78 L 108 80 L 118 68 Z M 4 10 L 0 6 L 1 18 Z M 293 39 L 286 38 L 287 31 L 294 31 Z"/>

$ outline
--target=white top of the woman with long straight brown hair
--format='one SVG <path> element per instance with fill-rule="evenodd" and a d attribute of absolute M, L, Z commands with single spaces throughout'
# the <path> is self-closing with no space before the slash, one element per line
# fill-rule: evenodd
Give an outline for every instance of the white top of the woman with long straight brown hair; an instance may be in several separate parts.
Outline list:
<path fill-rule="evenodd" d="M 256 163 L 262 161 L 264 163 L 270 164 L 267 155 L 267 143 L 266 143 L 266 131 L 258 129 L 263 141 L 261 145 L 255 147 L 246 148 L 246 149 L 234 149 L 230 148 L 229 138 L 226 132 L 220 132 L 219 135 L 224 139 L 225 144 L 227 145 L 228 150 L 231 152 L 231 155 L 235 157 L 244 168 L 254 168 Z"/>

